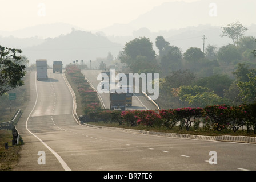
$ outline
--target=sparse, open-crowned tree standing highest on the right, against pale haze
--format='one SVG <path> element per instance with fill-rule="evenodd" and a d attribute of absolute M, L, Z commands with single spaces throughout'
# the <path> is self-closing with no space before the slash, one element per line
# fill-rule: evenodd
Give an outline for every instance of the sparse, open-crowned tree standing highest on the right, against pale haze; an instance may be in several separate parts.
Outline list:
<path fill-rule="evenodd" d="M 235 43 L 237 43 L 238 40 L 243 37 L 248 28 L 243 27 L 239 21 L 228 24 L 227 26 L 228 27 L 222 27 L 223 31 L 221 36 L 227 36 L 228 38 L 231 38 L 235 46 Z"/>

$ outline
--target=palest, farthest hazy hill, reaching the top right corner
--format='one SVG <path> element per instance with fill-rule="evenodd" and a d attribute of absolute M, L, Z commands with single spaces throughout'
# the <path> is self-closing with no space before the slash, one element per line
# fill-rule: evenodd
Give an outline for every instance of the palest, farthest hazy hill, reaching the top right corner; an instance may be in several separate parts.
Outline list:
<path fill-rule="evenodd" d="M 240 21 L 246 26 L 255 23 L 255 0 L 201 0 L 195 2 L 165 2 L 131 21 L 134 28 L 151 31 L 180 29 L 200 24 L 227 26 Z M 213 11 L 212 11 L 213 10 Z M 213 14 L 215 13 L 215 14 Z M 216 15 L 216 16 L 215 16 Z"/>

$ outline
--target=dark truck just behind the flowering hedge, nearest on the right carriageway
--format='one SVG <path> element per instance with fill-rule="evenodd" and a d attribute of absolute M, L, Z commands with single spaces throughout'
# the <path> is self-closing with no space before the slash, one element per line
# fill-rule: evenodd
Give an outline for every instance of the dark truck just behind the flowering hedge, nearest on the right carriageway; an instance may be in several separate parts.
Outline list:
<path fill-rule="evenodd" d="M 115 89 L 111 89 L 109 93 L 110 110 L 125 110 L 126 93 L 117 93 Z"/>

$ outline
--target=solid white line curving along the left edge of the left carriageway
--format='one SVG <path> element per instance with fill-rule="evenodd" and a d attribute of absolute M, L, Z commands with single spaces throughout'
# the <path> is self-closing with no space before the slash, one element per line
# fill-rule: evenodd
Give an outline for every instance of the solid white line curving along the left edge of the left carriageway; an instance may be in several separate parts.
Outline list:
<path fill-rule="evenodd" d="M 35 92 L 37 93 L 37 73 L 35 72 Z M 57 152 L 55 152 L 53 149 L 51 149 L 49 146 L 47 146 L 47 144 L 45 142 L 43 142 L 39 137 L 37 137 L 37 135 L 35 135 L 34 133 L 32 133 L 28 127 L 27 127 L 27 122 L 29 121 L 30 115 L 33 113 L 34 109 L 35 109 L 35 105 L 37 105 L 37 98 L 38 98 L 38 93 L 37 93 L 37 97 L 35 98 L 35 104 L 33 109 L 31 110 L 29 117 L 27 117 L 26 120 L 26 129 L 27 131 L 29 131 L 30 134 L 34 135 L 35 138 L 37 138 L 59 161 L 59 163 L 61 163 L 61 166 L 63 167 L 63 169 L 65 169 L 65 171 L 71 171 L 71 169 L 69 168 L 69 166 L 67 166 L 67 164 L 65 163 L 65 161 L 61 158 L 61 156 L 59 156 L 57 154 Z"/>

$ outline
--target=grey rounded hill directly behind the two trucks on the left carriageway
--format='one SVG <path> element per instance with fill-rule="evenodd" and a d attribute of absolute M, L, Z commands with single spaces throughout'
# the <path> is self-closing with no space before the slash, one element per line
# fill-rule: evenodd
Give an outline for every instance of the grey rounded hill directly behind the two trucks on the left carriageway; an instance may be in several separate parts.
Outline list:
<path fill-rule="evenodd" d="M 90 60 L 98 57 L 107 57 L 108 53 L 118 55 L 123 46 L 113 43 L 106 37 L 91 32 L 73 30 L 67 35 L 48 38 L 42 44 L 23 49 L 23 55 L 29 58 L 30 63 L 37 59 L 47 59 L 52 65 L 53 61 L 63 61 L 63 65 L 83 60 L 89 64 Z"/>

